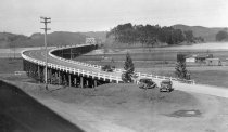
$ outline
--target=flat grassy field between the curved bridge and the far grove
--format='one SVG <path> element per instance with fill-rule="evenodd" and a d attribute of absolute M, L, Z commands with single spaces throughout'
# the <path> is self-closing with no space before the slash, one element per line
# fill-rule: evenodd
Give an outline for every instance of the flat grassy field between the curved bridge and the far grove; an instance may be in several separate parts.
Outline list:
<path fill-rule="evenodd" d="M 126 57 L 127 50 L 110 50 L 104 54 L 89 53 L 81 55 L 75 60 L 84 61 L 96 65 L 114 65 L 117 68 L 124 67 L 124 61 Z M 144 52 L 144 53 L 142 53 Z M 134 61 L 137 71 L 154 74 L 160 76 L 175 77 L 175 65 L 177 53 L 207 53 L 206 50 L 189 50 L 189 51 L 177 51 L 177 50 L 154 50 L 143 51 L 143 49 L 131 50 L 130 56 Z M 219 57 L 221 61 L 228 58 L 228 51 L 210 51 L 214 57 Z M 92 55 L 93 54 L 93 55 Z M 103 56 L 106 58 L 103 60 Z M 113 60 L 113 61 L 112 61 Z M 224 63 L 225 64 L 225 63 Z M 218 87 L 228 88 L 228 67 L 227 66 L 201 66 L 199 65 L 187 65 L 188 70 L 191 72 L 191 79 L 198 83 L 212 84 Z"/>

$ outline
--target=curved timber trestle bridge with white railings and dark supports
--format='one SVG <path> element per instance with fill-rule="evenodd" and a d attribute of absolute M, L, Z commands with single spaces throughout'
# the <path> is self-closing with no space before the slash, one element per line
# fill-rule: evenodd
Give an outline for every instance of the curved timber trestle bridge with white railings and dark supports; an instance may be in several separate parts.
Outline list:
<path fill-rule="evenodd" d="M 113 72 L 101 70 L 101 66 L 72 61 L 80 54 L 97 49 L 96 44 L 77 44 L 72 47 L 48 49 L 48 83 L 63 84 L 77 88 L 94 88 L 104 83 L 123 83 L 123 69 Z M 27 50 L 22 52 L 23 67 L 29 77 L 45 82 L 46 50 Z M 172 79 L 175 83 L 194 84 L 192 80 L 181 80 L 172 77 L 136 72 L 138 77 L 151 78 L 156 82 Z M 174 83 L 174 84 L 175 84 Z"/>

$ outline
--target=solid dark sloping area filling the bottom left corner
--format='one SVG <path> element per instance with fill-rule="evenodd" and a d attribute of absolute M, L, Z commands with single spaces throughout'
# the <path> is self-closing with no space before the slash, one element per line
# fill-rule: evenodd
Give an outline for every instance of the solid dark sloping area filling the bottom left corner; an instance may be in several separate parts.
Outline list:
<path fill-rule="evenodd" d="M 0 81 L 0 132 L 83 132 L 18 88 Z"/>

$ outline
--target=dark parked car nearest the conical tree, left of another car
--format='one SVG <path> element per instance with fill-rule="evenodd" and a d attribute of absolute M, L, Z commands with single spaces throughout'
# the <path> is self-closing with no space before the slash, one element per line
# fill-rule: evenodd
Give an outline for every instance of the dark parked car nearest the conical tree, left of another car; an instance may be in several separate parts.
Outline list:
<path fill-rule="evenodd" d="M 157 88 L 156 83 L 152 81 L 150 78 L 141 78 L 139 79 L 138 85 L 140 89 L 153 89 Z"/>

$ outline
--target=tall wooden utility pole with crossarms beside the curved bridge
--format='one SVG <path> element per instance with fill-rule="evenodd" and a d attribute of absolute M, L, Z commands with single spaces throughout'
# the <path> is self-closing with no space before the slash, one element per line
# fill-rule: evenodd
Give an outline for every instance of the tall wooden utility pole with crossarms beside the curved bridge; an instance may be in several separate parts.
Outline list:
<path fill-rule="evenodd" d="M 50 17 L 40 17 L 40 23 L 45 24 L 45 28 L 41 28 L 45 30 L 45 47 L 46 47 L 46 70 L 45 70 L 45 83 L 46 83 L 46 90 L 48 90 L 48 50 L 47 50 L 47 30 L 50 30 L 50 28 L 47 28 L 48 23 L 51 23 Z"/>

